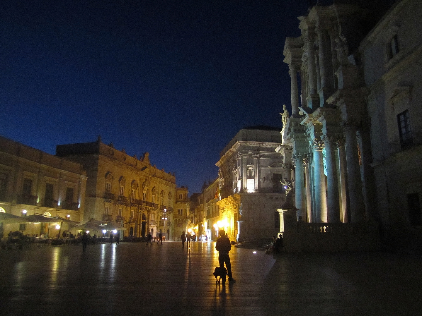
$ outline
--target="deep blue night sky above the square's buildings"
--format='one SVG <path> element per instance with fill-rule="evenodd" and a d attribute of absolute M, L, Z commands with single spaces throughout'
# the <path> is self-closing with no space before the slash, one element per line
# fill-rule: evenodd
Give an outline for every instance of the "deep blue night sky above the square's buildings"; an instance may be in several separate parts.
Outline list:
<path fill-rule="evenodd" d="M 199 192 L 243 126 L 281 127 L 286 36 L 308 1 L 0 3 L 1 134 L 113 142 Z"/>

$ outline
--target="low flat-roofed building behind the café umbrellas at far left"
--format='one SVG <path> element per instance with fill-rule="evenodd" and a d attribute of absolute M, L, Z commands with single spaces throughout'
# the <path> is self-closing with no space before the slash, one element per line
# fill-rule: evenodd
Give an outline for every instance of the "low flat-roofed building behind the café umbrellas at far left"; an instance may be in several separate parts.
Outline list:
<path fill-rule="evenodd" d="M 17 216 L 45 214 L 73 221 L 84 217 L 87 173 L 80 163 L 0 136 L 0 212 Z M 58 231 L 48 224 L 5 224 L 0 230 L 24 234 Z M 6 231 L 7 230 L 7 231 Z"/>

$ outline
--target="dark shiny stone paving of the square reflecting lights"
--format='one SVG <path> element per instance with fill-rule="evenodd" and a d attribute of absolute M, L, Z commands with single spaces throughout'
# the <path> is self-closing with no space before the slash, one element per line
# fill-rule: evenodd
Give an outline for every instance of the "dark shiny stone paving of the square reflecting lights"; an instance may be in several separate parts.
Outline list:
<path fill-rule="evenodd" d="M 421 315 L 422 264 L 386 253 L 231 251 L 121 243 L 0 251 L 1 315 Z"/>

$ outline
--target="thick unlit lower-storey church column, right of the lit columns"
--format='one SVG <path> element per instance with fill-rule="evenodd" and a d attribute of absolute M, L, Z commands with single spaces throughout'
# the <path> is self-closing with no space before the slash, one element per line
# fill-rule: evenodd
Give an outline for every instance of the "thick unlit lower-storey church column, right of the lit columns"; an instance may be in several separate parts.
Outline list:
<path fill-rule="evenodd" d="M 346 124 L 346 163 L 352 223 L 365 221 L 362 195 L 362 179 L 360 177 L 359 158 L 357 154 L 356 132 L 356 125 L 352 123 Z"/>

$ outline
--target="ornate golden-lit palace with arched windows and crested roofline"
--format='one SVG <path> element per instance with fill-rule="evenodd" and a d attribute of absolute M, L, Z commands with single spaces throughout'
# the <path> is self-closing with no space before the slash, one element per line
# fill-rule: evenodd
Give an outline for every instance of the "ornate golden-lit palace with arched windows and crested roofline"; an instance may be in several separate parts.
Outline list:
<path fill-rule="evenodd" d="M 151 166 L 149 153 L 138 159 L 97 142 L 58 145 L 57 155 L 83 164 L 87 171 L 84 219 L 115 222 L 124 236 L 174 239 L 176 177 Z M 167 220 L 166 220 L 167 218 Z"/>

